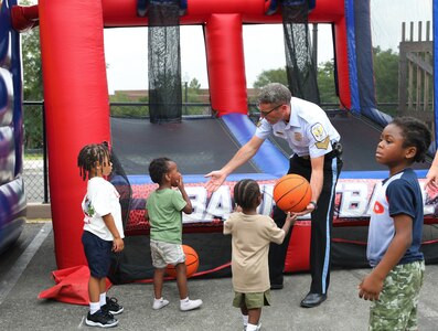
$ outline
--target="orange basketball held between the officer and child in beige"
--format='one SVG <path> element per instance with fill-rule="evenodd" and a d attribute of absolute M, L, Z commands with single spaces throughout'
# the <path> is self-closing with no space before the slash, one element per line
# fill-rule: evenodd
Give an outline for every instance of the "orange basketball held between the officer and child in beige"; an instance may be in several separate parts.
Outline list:
<path fill-rule="evenodd" d="M 274 200 L 284 212 L 302 212 L 311 199 L 310 184 L 299 174 L 286 174 L 274 186 Z"/>

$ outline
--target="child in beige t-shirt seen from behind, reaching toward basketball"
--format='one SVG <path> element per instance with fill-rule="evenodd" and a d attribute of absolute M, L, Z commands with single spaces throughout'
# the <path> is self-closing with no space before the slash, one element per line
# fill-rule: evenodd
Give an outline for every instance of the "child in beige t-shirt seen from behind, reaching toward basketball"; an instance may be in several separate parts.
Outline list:
<path fill-rule="evenodd" d="M 224 234 L 233 236 L 233 306 L 241 308 L 244 330 L 254 331 L 261 325 L 261 307 L 270 306 L 269 244 L 281 244 L 295 218 L 288 213 L 279 228 L 273 218 L 258 214 L 261 193 L 257 182 L 250 179 L 234 186 L 234 202 L 239 211 L 224 222 Z"/>

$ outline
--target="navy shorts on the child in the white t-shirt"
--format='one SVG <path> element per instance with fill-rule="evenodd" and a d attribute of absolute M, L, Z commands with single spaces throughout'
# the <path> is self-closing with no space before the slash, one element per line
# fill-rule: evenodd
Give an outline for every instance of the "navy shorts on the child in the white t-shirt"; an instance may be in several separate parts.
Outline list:
<path fill-rule="evenodd" d="M 107 277 L 111 264 L 113 242 L 100 239 L 93 233 L 84 231 L 82 244 L 92 276 L 96 278 Z"/>

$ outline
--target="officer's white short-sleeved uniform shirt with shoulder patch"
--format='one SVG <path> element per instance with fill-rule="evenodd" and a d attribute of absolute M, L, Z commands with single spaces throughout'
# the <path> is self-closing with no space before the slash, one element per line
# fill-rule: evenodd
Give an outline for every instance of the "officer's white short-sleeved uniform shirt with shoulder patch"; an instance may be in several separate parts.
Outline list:
<path fill-rule="evenodd" d="M 290 99 L 289 122 L 270 125 L 265 118 L 259 121 L 255 135 L 265 140 L 270 134 L 286 139 L 299 157 L 311 158 L 331 152 L 332 143 L 341 139 L 323 109 L 296 97 Z"/>

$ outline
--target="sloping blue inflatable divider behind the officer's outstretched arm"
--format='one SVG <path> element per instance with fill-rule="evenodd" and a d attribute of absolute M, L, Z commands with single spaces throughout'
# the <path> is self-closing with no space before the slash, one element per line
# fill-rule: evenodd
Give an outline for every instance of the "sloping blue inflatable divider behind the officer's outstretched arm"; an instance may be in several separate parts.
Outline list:
<path fill-rule="evenodd" d="M 256 127 L 246 115 L 227 114 L 222 116 L 222 119 L 241 146 L 255 132 Z M 276 178 L 282 177 L 289 170 L 289 160 L 269 140 L 265 140 L 253 161 L 261 172 Z"/>

